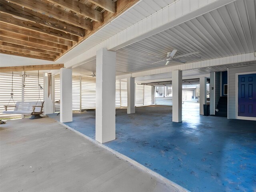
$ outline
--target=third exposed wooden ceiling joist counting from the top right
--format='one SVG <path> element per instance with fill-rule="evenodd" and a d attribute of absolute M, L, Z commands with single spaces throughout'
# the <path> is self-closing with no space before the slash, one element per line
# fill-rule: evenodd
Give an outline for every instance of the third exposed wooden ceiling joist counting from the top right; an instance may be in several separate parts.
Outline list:
<path fill-rule="evenodd" d="M 76 16 L 72 13 L 66 12 L 62 9 L 50 6 L 49 4 L 46 4 L 44 2 L 41 2 L 38 0 L 29 0 L 29 1 L 9 0 L 9 2 L 20 5 L 24 8 L 28 8 L 28 9 L 40 12 L 42 14 L 46 14 L 48 16 L 67 22 L 74 26 L 77 26 L 86 30 L 92 30 L 92 23 L 90 21 L 85 20 L 84 18 Z"/>

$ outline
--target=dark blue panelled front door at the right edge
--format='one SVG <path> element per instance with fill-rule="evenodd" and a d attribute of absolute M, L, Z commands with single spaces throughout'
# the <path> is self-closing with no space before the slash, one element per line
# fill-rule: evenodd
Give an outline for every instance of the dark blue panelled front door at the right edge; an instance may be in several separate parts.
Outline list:
<path fill-rule="evenodd" d="M 238 75 L 238 116 L 256 117 L 256 74 Z"/>

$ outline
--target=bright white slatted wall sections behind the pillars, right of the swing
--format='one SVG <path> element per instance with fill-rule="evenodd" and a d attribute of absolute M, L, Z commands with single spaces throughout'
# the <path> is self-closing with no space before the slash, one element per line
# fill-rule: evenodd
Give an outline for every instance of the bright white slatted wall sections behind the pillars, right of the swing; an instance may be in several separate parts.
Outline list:
<path fill-rule="evenodd" d="M 60 99 L 60 76 L 55 76 L 55 98 L 54 101 Z M 72 76 L 72 103 L 73 110 L 80 110 L 80 94 L 81 109 L 92 109 L 96 107 L 96 78 L 82 77 L 82 91 L 80 93 L 79 76 Z M 116 80 L 116 108 L 127 107 L 127 82 Z M 136 84 L 136 106 L 152 104 L 152 86 Z M 55 104 L 55 112 L 60 111 L 60 105 Z"/>

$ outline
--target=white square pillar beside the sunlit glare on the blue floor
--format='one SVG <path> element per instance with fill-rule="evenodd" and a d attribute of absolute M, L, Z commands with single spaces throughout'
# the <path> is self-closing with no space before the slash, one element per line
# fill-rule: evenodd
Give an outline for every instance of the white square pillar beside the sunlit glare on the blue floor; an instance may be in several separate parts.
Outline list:
<path fill-rule="evenodd" d="M 182 122 L 182 71 L 172 71 L 172 121 Z"/>

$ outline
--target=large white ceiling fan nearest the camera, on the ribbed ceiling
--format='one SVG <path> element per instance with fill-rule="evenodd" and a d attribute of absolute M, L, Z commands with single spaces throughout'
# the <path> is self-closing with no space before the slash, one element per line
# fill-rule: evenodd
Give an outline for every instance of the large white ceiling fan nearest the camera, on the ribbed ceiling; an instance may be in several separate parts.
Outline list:
<path fill-rule="evenodd" d="M 148 55 L 158 57 L 158 58 L 155 58 L 155 59 L 161 59 L 160 61 L 157 61 L 157 62 L 154 62 L 154 63 L 166 61 L 165 65 L 168 65 L 169 62 L 171 62 L 171 61 L 186 63 L 187 62 L 186 59 L 201 58 L 201 57 L 187 57 L 188 55 L 197 54 L 197 53 L 199 53 L 199 51 L 186 53 L 186 54 L 178 55 L 178 56 L 175 57 L 174 55 L 176 54 L 176 52 L 177 52 L 177 50 L 174 49 L 174 50 L 172 50 L 172 52 L 168 52 L 166 57 L 163 57 L 163 56 L 160 56 L 160 55 L 154 55 L 154 54 L 148 54 Z M 155 60 L 155 59 L 149 59 L 149 60 Z M 152 63 L 152 64 L 154 64 L 154 63 Z"/>

